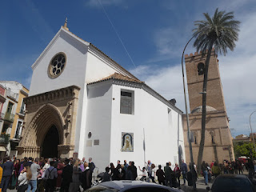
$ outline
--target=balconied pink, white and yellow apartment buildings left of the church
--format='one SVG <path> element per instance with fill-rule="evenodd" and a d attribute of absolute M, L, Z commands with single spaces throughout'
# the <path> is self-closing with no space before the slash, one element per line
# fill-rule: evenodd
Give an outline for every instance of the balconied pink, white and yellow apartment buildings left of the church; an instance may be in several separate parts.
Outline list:
<path fill-rule="evenodd" d="M 0 157 L 16 155 L 29 90 L 19 82 L 0 81 Z"/>

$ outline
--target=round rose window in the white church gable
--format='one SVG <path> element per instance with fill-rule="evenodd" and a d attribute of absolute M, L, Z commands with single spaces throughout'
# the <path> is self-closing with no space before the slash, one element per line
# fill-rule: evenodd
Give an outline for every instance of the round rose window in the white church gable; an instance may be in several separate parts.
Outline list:
<path fill-rule="evenodd" d="M 51 59 L 49 65 L 49 74 L 51 78 L 57 78 L 58 75 L 62 74 L 66 66 L 66 55 L 65 54 L 57 54 L 54 58 Z"/>

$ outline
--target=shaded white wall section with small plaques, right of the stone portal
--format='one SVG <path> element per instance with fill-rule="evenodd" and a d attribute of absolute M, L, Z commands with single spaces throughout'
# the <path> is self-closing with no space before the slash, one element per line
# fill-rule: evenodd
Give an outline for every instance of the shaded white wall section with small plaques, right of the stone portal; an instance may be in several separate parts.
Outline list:
<path fill-rule="evenodd" d="M 85 148 L 82 157 L 93 158 L 95 166 L 100 171 L 110 162 L 110 133 L 111 133 L 111 107 L 112 86 L 109 82 L 94 84 L 88 88 L 88 102 L 86 115 L 86 132 L 84 135 Z M 91 138 L 88 133 L 91 132 Z M 99 145 L 94 146 L 94 139 L 99 139 Z M 92 142 L 92 146 L 87 146 Z"/>

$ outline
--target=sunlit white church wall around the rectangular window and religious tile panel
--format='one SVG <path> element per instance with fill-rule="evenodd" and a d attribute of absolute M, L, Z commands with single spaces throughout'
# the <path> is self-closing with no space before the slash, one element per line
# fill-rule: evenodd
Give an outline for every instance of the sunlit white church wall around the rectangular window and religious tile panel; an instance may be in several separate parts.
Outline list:
<path fill-rule="evenodd" d="M 121 90 L 134 90 L 134 114 L 120 114 Z M 110 162 L 126 159 L 136 166 L 144 166 L 143 128 L 146 137 L 146 161 L 156 165 L 178 159 L 178 113 L 171 110 L 168 118 L 167 106 L 145 90 L 127 86 L 113 86 L 111 156 Z M 179 121 L 179 136 L 182 135 L 182 121 Z M 170 124 L 170 125 L 169 125 Z M 134 133 L 134 152 L 122 152 L 122 132 Z M 183 146 L 184 147 L 184 146 Z"/>

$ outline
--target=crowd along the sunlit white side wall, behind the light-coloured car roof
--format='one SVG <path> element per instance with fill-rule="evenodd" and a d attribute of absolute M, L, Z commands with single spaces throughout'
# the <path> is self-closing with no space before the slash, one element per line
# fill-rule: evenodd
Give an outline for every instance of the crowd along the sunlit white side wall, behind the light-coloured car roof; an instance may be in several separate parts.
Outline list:
<path fill-rule="evenodd" d="M 115 180 L 141 180 L 146 182 L 156 182 L 156 177 L 158 178 L 158 184 L 164 186 L 178 187 L 180 188 L 180 177 L 183 176 L 184 183 L 188 182 L 188 185 L 192 186 L 192 173 L 188 171 L 187 165 L 182 160 L 181 167 L 175 163 L 174 170 L 171 168 L 171 162 L 166 162 L 166 166 L 163 167 L 158 165 L 158 169 L 155 164 L 150 162 L 145 162 L 144 167 L 138 166 L 138 169 L 142 174 L 137 174 L 137 167 L 134 165 L 134 162 L 129 162 L 127 164 L 126 160 L 123 164 L 120 164 L 118 161 L 117 166 L 114 166 L 114 163 L 111 162 L 110 166 L 106 167 L 106 172 L 103 174 L 102 182 L 106 181 L 115 181 Z M 191 169 L 190 169 L 191 170 Z M 195 170 L 194 170 L 195 172 Z M 196 173 L 196 172 L 195 172 Z"/>

